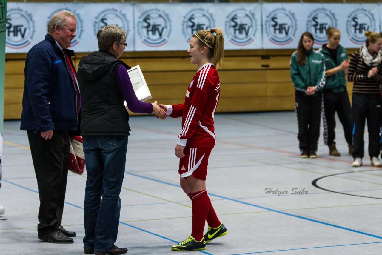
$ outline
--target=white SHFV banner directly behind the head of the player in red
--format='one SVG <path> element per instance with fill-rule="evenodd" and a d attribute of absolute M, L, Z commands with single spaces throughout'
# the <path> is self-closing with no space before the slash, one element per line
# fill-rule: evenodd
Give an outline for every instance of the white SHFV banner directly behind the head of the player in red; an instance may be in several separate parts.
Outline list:
<path fill-rule="evenodd" d="M 261 48 L 261 5 L 244 3 L 136 4 L 135 49 L 187 50 L 200 29 L 221 28 L 225 49 Z"/>

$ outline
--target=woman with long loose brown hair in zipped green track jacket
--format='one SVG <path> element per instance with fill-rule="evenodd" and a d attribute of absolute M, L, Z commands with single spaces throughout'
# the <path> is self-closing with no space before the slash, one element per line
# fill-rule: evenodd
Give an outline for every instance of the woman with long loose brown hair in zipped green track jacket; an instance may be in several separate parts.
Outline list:
<path fill-rule="evenodd" d="M 325 85 L 325 58 L 313 50 L 314 38 L 304 32 L 290 60 L 290 76 L 295 86 L 298 141 L 301 158 L 317 158 L 320 136 L 322 90 Z"/>

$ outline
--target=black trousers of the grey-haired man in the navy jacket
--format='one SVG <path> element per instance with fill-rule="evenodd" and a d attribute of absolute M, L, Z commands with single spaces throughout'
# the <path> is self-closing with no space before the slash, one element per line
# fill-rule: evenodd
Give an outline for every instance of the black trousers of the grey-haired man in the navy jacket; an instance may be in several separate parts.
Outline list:
<path fill-rule="evenodd" d="M 61 225 L 69 164 L 68 131 L 54 131 L 45 140 L 40 133 L 28 131 L 34 171 L 39 186 L 40 210 L 37 232 L 44 236 Z"/>

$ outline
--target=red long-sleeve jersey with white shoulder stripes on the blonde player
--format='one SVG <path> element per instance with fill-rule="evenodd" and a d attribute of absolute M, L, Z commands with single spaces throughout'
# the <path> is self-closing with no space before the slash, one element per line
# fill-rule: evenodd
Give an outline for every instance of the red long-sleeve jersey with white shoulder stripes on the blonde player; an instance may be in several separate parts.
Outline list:
<path fill-rule="evenodd" d="M 185 102 L 172 105 L 170 117 L 182 117 L 178 145 L 215 146 L 214 114 L 219 102 L 219 75 L 212 63 L 203 65 L 188 86 Z"/>

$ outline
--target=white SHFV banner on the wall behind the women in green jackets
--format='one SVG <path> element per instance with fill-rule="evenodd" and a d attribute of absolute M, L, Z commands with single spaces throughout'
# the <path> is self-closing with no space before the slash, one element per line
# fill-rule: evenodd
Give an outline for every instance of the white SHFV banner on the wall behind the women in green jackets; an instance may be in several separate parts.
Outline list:
<path fill-rule="evenodd" d="M 340 44 L 358 48 L 366 41 L 365 31 L 380 32 L 377 4 L 264 3 L 262 5 L 265 49 L 297 48 L 303 32 L 314 37 L 314 48 L 327 44 L 326 29 L 337 27 Z"/>

